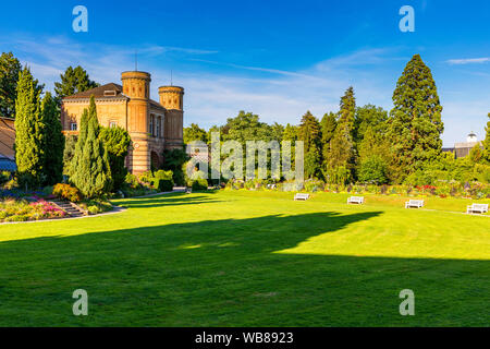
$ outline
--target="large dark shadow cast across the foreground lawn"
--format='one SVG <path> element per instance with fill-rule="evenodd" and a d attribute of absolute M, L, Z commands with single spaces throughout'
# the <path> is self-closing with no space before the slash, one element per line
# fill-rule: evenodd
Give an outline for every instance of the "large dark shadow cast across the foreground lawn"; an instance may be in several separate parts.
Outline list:
<path fill-rule="evenodd" d="M 266 216 L 2 242 L 0 326 L 487 326 L 489 261 L 274 253 L 378 215 Z M 88 292 L 89 316 L 72 314 L 78 288 Z M 405 288 L 416 294 L 416 316 L 399 313 Z"/>

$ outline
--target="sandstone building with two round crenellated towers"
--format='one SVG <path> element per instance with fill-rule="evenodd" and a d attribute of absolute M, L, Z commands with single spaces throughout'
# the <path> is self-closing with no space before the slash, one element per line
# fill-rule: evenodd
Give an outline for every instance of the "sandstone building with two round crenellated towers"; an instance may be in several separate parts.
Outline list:
<path fill-rule="evenodd" d="M 158 168 L 164 149 L 183 146 L 184 88 L 161 86 L 159 101 L 150 98 L 151 75 L 131 71 L 121 74 L 122 85 L 110 83 L 63 98 L 63 133 L 77 134 L 82 113 L 94 95 L 99 123 L 121 127 L 131 135 L 126 167 L 132 173 Z"/>

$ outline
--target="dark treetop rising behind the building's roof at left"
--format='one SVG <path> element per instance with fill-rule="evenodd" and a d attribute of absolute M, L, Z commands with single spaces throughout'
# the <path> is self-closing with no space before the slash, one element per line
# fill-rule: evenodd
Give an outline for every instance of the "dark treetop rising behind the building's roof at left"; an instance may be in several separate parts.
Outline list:
<path fill-rule="evenodd" d="M 54 83 L 56 100 L 59 104 L 63 97 L 85 92 L 99 86 L 91 81 L 87 72 L 82 67 L 69 67 L 64 74 L 60 75 L 61 82 Z"/>

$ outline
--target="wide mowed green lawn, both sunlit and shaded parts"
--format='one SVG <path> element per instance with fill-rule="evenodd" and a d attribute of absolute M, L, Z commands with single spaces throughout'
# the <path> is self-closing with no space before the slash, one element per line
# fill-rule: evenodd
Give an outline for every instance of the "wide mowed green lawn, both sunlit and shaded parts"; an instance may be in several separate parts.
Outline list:
<path fill-rule="evenodd" d="M 0 226 L 0 326 L 488 326 L 490 217 L 470 201 L 221 191 Z M 400 203 L 399 203 L 400 201 Z M 488 201 L 487 201 L 488 202 Z M 88 316 L 72 293 L 88 292 Z M 403 289 L 415 316 L 402 316 Z"/>

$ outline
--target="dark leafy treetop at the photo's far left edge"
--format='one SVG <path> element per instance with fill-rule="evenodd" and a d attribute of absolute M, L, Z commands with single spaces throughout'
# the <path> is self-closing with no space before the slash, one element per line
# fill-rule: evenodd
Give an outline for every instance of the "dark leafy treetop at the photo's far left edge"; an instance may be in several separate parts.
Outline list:
<path fill-rule="evenodd" d="M 17 81 L 22 65 L 12 52 L 0 56 L 0 116 L 15 117 Z"/>

